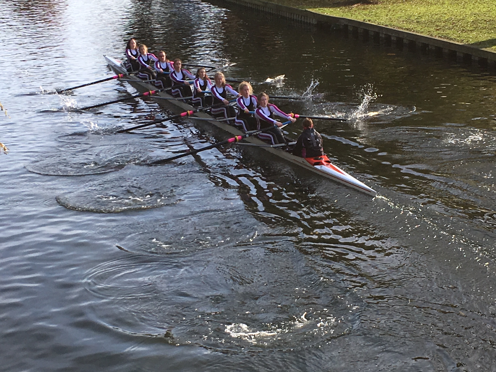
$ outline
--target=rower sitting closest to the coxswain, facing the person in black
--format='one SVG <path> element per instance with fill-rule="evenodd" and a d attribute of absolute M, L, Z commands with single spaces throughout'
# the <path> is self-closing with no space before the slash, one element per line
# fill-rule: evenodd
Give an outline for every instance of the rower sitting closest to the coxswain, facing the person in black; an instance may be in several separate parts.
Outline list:
<path fill-rule="evenodd" d="M 258 134 L 258 136 L 262 139 L 268 140 L 273 145 L 277 145 L 278 143 L 285 143 L 286 141 L 284 140 L 284 136 L 279 129 L 279 127 L 282 126 L 282 123 L 273 119 L 273 116 L 277 115 L 281 118 L 291 121 L 291 123 L 296 122 L 296 119 L 279 110 L 276 105 L 269 103 L 269 96 L 266 93 L 260 93 L 257 99 L 258 107 L 255 110 L 255 118 L 258 121 L 257 129 L 264 129 L 269 128 L 273 125 L 277 125 L 277 128 L 272 127 L 271 129 Z"/>

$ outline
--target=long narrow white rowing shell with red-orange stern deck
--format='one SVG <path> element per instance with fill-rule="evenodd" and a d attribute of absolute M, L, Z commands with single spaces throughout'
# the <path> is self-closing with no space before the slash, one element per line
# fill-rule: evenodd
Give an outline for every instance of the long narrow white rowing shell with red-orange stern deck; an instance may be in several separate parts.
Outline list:
<path fill-rule="evenodd" d="M 111 67 L 116 73 L 126 73 L 126 68 L 124 67 L 124 63 L 120 60 L 117 60 L 112 57 L 104 56 L 105 60 L 109 64 L 109 67 Z M 147 92 L 149 90 L 155 90 L 156 88 L 151 85 L 148 82 L 145 82 L 141 80 L 140 78 L 134 76 L 134 75 L 128 75 L 126 76 L 125 81 L 129 82 L 136 90 L 139 92 Z M 165 92 L 160 92 L 157 94 L 158 97 L 156 97 L 156 101 L 160 106 L 165 107 L 166 109 L 172 111 L 175 114 L 182 113 L 188 110 L 194 110 L 195 108 L 186 104 L 185 102 L 182 102 L 181 100 L 177 100 L 171 95 L 165 93 Z M 165 98 L 165 99 L 161 99 Z M 151 98 L 154 98 L 152 96 Z M 213 117 L 210 115 L 204 113 L 204 112 L 198 112 L 194 114 L 198 119 L 200 120 L 206 120 L 208 123 L 216 126 L 217 128 L 222 129 L 225 132 L 228 132 L 233 135 L 242 135 L 244 134 L 242 131 L 240 131 L 238 128 L 223 123 L 216 121 Z M 195 117 L 190 116 L 189 119 L 195 119 Z M 246 139 L 248 142 L 254 144 L 254 145 L 259 145 L 260 148 L 264 149 L 265 151 L 268 151 L 280 158 L 285 159 L 286 161 L 289 161 L 293 164 L 297 164 L 299 166 L 302 166 L 305 169 L 310 170 L 313 173 L 317 173 L 325 178 L 331 179 L 333 181 L 339 182 L 343 185 L 352 187 L 356 190 L 365 192 L 371 196 L 375 196 L 376 192 L 373 190 L 371 187 L 365 185 L 364 183 L 358 181 L 356 178 L 353 176 L 350 176 L 348 173 L 340 169 L 339 167 L 336 167 L 331 163 L 329 158 L 326 155 L 323 155 L 318 158 L 302 158 L 299 156 L 295 156 L 287 151 L 284 151 L 282 149 L 276 148 L 276 147 L 267 147 L 266 143 L 261 141 L 260 139 L 256 137 L 248 137 Z"/>

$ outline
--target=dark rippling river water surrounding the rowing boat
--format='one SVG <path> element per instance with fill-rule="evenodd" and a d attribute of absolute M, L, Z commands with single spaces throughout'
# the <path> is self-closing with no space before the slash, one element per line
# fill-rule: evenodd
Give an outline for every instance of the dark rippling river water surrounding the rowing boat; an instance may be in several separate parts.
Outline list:
<path fill-rule="evenodd" d="M 496 371 L 495 76 L 223 6 L 2 2 L 0 370 Z M 220 138 L 49 94 L 130 37 L 349 118 L 315 124 L 377 197 L 239 147 L 146 166 Z"/>

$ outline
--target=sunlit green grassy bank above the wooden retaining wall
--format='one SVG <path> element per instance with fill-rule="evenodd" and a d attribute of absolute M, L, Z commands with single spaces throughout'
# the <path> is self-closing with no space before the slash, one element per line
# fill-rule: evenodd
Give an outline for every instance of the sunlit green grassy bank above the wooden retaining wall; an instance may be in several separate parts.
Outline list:
<path fill-rule="evenodd" d="M 496 50 L 495 0 L 271 1 Z"/>

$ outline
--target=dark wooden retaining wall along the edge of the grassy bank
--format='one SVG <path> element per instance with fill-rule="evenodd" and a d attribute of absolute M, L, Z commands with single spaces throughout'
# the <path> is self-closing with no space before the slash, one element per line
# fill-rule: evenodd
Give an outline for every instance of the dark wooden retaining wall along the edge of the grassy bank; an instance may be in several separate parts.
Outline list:
<path fill-rule="evenodd" d="M 349 18 L 315 13 L 310 10 L 292 8 L 262 0 L 217 0 L 247 6 L 257 11 L 277 14 L 297 22 L 309 23 L 319 27 L 341 29 L 357 39 L 373 40 L 378 44 L 393 46 L 400 50 L 420 52 L 445 58 L 467 65 L 496 69 L 496 52 L 479 49 L 467 44 L 402 31 L 391 27 L 356 21 Z"/>

